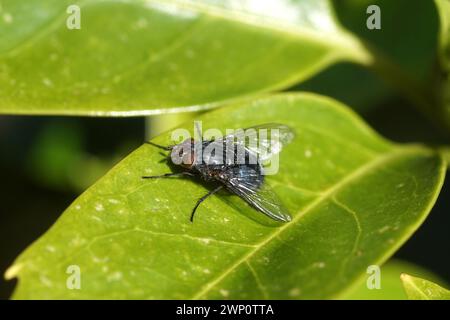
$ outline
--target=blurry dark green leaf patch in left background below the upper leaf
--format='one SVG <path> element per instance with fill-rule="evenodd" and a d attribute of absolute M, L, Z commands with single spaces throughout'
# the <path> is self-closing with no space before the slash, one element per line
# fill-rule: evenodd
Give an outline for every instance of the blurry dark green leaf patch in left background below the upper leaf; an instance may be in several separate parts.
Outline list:
<path fill-rule="evenodd" d="M 92 154 L 86 150 L 85 134 L 80 123 L 61 119 L 50 121 L 38 132 L 26 162 L 36 183 L 54 190 L 82 192 L 134 149 L 135 143 L 125 140 L 114 153 Z"/>

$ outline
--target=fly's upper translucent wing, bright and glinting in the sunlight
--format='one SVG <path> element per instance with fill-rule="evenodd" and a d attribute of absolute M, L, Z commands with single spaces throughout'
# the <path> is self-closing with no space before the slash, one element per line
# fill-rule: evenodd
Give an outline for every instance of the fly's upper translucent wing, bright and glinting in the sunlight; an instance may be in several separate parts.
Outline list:
<path fill-rule="evenodd" d="M 260 161 L 268 160 L 271 156 L 281 152 L 283 146 L 294 139 L 291 128 L 279 123 L 266 123 L 242 130 L 220 139 L 225 143 L 232 142 L 243 146 L 251 154 L 256 154 Z"/>

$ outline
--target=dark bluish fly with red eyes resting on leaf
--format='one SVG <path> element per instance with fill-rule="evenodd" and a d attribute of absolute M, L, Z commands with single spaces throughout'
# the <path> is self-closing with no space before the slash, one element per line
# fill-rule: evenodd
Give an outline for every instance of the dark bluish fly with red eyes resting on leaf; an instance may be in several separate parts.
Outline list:
<path fill-rule="evenodd" d="M 261 132 L 271 133 L 270 137 Z M 201 137 L 201 134 L 199 136 Z M 294 133 L 288 126 L 268 123 L 237 130 L 215 140 L 196 141 L 189 138 L 180 144 L 167 147 L 147 142 L 171 151 L 170 161 L 180 165 L 183 171 L 142 178 L 197 176 L 204 181 L 215 183 L 213 190 L 198 199 L 191 213 L 191 221 L 204 200 L 225 188 L 270 218 L 288 222 L 291 216 L 287 209 L 265 183 L 263 163 L 279 153 L 293 138 Z"/>

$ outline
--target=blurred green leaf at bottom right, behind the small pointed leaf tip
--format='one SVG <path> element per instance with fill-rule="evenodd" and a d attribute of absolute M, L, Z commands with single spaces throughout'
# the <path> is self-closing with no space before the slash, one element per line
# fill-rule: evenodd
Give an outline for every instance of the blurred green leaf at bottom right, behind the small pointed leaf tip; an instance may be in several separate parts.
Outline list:
<path fill-rule="evenodd" d="M 367 274 L 366 279 L 344 298 L 350 300 L 406 300 L 407 296 L 400 280 L 400 275 L 403 273 L 413 273 L 433 281 L 442 281 L 428 270 L 405 261 L 390 260 L 381 266 L 380 270 L 380 289 L 368 288 L 366 281 L 369 274 Z"/>

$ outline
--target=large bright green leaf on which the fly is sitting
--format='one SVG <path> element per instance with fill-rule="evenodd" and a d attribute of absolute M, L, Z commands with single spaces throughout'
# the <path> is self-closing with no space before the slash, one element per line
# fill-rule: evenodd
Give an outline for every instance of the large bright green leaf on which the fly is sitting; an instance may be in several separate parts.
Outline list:
<path fill-rule="evenodd" d="M 312 94 L 242 102 L 201 120 L 223 132 L 266 122 L 294 129 L 279 173 L 266 182 L 291 222 L 272 222 L 223 193 L 190 223 L 207 188 L 192 179 L 143 181 L 170 170 L 161 150 L 144 145 L 17 259 L 6 273 L 19 277 L 14 298 L 339 297 L 419 227 L 446 171 L 438 152 L 389 143 L 345 106 Z M 66 288 L 70 265 L 81 269 L 81 290 Z"/>

